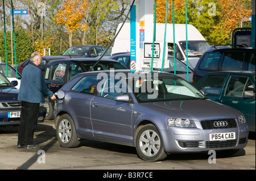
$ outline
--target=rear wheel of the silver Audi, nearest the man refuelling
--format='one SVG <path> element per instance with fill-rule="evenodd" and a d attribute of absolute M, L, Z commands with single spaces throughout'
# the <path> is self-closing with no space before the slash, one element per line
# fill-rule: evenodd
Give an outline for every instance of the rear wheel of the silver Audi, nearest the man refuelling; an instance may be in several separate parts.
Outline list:
<path fill-rule="evenodd" d="M 80 144 L 76 134 L 75 124 L 72 118 L 67 114 L 57 119 L 56 134 L 60 146 L 64 148 L 73 148 Z"/>

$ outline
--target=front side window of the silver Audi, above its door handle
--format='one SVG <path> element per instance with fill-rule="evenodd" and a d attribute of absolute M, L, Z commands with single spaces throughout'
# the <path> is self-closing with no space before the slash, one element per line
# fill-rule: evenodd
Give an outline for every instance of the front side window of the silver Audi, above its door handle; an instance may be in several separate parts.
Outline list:
<path fill-rule="evenodd" d="M 97 86 L 97 89 L 99 90 L 98 96 L 100 97 L 114 99 L 115 96 L 127 92 L 126 84 L 114 77 L 104 78 L 99 84 L 99 88 Z"/>

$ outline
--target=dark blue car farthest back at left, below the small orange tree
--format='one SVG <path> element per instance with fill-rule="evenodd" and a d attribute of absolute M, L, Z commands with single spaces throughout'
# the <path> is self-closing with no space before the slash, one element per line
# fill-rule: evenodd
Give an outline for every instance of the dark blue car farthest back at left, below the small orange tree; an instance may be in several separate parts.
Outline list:
<path fill-rule="evenodd" d="M 61 56 L 68 57 L 97 57 L 104 52 L 105 47 L 100 45 L 77 45 L 69 47 Z"/>

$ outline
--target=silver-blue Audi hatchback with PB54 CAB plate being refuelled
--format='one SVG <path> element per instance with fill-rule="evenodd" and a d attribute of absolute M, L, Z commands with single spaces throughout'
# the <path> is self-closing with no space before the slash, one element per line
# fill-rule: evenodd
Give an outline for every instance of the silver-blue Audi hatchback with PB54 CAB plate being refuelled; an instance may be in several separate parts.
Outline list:
<path fill-rule="evenodd" d="M 245 148 L 248 127 L 240 111 L 207 99 L 171 73 L 130 70 L 81 73 L 57 92 L 60 146 L 79 139 L 135 146 L 139 157 Z M 228 152 L 229 152 L 228 151 Z"/>

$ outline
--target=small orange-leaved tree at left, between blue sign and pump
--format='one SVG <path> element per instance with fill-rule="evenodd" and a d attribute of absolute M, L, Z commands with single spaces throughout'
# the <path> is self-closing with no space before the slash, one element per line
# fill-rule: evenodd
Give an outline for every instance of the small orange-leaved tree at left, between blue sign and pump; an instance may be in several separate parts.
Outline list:
<path fill-rule="evenodd" d="M 65 26 L 69 33 L 69 47 L 72 46 L 72 34 L 78 29 L 88 30 L 88 24 L 83 23 L 89 3 L 86 0 L 67 0 L 63 8 L 57 11 L 54 20 L 58 26 Z"/>

